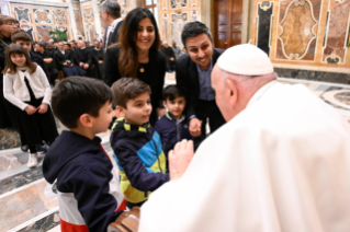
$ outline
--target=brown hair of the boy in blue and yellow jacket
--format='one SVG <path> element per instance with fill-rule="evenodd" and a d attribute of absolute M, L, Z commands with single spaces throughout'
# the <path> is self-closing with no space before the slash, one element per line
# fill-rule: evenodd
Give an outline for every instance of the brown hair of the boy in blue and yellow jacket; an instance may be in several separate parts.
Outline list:
<path fill-rule="evenodd" d="M 150 88 L 145 82 L 136 78 L 122 78 L 112 85 L 114 94 L 114 105 L 126 108 L 126 103 L 129 100 L 136 98 L 143 93 L 149 93 Z"/>

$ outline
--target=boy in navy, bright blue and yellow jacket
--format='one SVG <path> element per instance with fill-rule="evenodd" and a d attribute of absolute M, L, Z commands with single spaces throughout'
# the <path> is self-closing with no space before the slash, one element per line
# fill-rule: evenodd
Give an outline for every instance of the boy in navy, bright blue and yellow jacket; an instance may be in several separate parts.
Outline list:
<path fill-rule="evenodd" d="M 169 181 L 160 137 L 149 125 L 150 88 L 134 78 L 112 85 L 117 119 L 112 126 L 111 146 L 121 174 L 126 206 L 142 206 L 151 192 Z"/>

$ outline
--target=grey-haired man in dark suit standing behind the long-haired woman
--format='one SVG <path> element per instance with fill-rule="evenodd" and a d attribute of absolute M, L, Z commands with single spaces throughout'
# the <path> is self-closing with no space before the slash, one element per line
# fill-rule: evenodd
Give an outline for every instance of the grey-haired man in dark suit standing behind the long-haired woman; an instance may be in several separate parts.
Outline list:
<path fill-rule="evenodd" d="M 104 49 L 112 44 L 115 44 L 118 39 L 123 19 L 121 16 L 121 5 L 116 0 L 105 0 L 101 4 L 102 20 L 106 24 L 104 30 Z"/>

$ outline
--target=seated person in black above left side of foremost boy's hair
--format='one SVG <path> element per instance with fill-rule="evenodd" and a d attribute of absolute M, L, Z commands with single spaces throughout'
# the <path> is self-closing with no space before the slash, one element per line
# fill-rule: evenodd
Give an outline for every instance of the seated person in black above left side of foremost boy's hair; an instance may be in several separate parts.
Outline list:
<path fill-rule="evenodd" d="M 75 65 L 75 58 L 70 50 L 65 50 L 63 42 L 58 43 L 58 50 L 55 53 L 54 59 L 59 70 L 63 70 L 65 77 L 84 76 L 84 71 Z"/>

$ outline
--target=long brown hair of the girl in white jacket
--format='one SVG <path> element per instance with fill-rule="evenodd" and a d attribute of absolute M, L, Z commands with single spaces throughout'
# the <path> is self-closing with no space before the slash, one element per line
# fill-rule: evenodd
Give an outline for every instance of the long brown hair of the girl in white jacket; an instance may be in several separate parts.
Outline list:
<path fill-rule="evenodd" d="M 18 54 L 18 55 L 24 55 L 25 56 L 25 66 L 29 68 L 29 72 L 32 74 L 36 71 L 36 63 L 33 63 L 30 56 L 27 55 L 27 51 L 24 47 L 18 44 L 11 44 L 8 46 L 4 56 L 7 58 L 7 66 L 4 67 L 2 73 L 10 73 L 14 74 L 16 72 L 16 65 L 14 65 L 11 60 L 11 55 Z"/>

